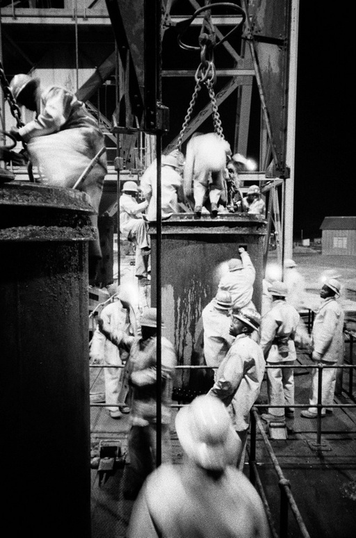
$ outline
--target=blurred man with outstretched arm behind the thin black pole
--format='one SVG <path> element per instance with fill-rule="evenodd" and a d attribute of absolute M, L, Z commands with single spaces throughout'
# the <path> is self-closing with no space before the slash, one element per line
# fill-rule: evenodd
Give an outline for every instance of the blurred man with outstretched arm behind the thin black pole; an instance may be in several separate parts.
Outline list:
<path fill-rule="evenodd" d="M 142 336 L 127 336 L 112 330 L 98 320 L 104 335 L 120 350 L 129 352 L 127 375 L 131 385 L 131 411 L 129 415 L 129 487 L 124 491 L 127 499 L 136 498 L 145 478 L 156 466 L 156 356 L 157 311 L 145 309 L 140 320 Z M 163 326 L 164 327 L 164 326 Z M 172 377 L 177 357 L 172 343 L 161 338 L 161 439 L 162 462 L 171 460 L 170 405 L 172 404 Z"/>

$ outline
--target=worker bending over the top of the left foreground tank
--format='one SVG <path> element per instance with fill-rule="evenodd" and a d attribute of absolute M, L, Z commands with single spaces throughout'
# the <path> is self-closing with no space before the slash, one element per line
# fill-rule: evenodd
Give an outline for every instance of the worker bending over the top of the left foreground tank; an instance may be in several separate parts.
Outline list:
<path fill-rule="evenodd" d="M 104 135 L 85 104 L 65 88 L 43 88 L 40 79 L 17 74 L 10 81 L 10 90 L 17 104 L 36 113 L 34 120 L 19 129 L 13 127 L 10 133 L 26 142 L 26 151 L 31 163 L 38 167 L 40 178 L 47 185 L 72 188 L 86 170 L 79 188 L 88 194 L 96 211 L 90 215 L 96 230 L 95 241 L 89 243 L 89 278 L 95 280 L 102 257 L 97 212 L 107 172 L 106 154 L 101 154 L 97 161 L 93 159 L 105 149 Z M 88 169 L 90 165 L 92 168 Z"/>

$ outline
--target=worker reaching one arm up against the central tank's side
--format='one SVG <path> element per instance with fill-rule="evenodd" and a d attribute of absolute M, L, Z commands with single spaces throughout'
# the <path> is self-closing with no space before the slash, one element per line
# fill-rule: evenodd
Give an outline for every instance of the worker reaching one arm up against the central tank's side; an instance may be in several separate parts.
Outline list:
<path fill-rule="evenodd" d="M 243 247 L 239 247 L 238 252 L 241 257 L 228 261 L 229 272 L 221 277 L 218 288 L 230 293 L 234 307 L 254 308 L 252 294 L 256 270 L 250 254 Z"/>

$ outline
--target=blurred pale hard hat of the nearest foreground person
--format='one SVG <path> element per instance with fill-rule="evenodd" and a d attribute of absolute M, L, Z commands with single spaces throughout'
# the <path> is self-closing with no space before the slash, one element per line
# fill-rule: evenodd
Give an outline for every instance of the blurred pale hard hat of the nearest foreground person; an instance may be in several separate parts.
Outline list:
<path fill-rule="evenodd" d="M 221 471 L 236 465 L 241 441 L 223 402 L 215 396 L 197 396 L 175 418 L 181 447 L 202 468 Z"/>

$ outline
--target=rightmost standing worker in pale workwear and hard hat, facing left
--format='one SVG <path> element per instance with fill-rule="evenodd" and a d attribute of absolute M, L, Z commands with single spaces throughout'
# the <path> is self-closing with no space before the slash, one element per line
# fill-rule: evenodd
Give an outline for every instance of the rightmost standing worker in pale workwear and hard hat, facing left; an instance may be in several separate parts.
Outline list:
<path fill-rule="evenodd" d="M 339 280 L 327 279 L 321 288 L 320 296 L 323 299 L 321 307 L 314 318 L 312 329 L 312 361 L 316 364 L 327 366 L 337 366 L 343 363 L 345 343 L 343 339 L 343 309 L 337 302 L 340 296 L 341 284 Z M 336 383 L 336 368 L 324 368 L 321 386 L 321 402 L 318 402 L 318 368 L 312 369 L 312 386 L 310 390 L 309 409 L 305 409 L 300 416 L 305 418 L 316 418 L 316 404 L 325 406 L 332 405 L 334 401 L 334 391 Z M 321 416 L 332 413 L 332 409 L 323 407 Z"/>

